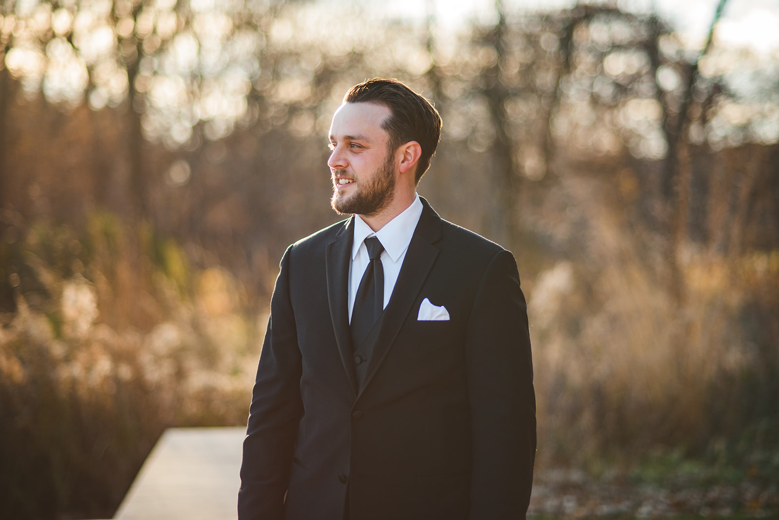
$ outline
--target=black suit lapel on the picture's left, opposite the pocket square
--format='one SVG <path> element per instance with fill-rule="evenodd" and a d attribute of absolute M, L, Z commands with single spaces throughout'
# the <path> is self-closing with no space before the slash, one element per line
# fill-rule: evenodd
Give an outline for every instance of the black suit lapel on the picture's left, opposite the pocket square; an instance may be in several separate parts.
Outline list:
<path fill-rule="evenodd" d="M 336 239 L 327 244 L 325 251 L 325 272 L 327 273 L 327 300 L 330 304 L 330 318 L 333 320 L 333 332 L 344 364 L 349 384 L 357 395 L 357 380 L 354 376 L 352 360 L 353 347 L 349 331 L 349 260 L 351 242 L 354 238 L 354 216 L 339 231 Z"/>

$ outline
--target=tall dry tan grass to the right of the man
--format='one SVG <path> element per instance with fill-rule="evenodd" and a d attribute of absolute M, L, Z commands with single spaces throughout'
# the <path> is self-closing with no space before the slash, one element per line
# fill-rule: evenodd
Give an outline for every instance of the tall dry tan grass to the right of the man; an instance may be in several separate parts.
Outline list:
<path fill-rule="evenodd" d="M 601 202 L 576 206 L 581 258 L 531 283 L 541 461 L 666 452 L 779 476 L 779 251 L 688 243 L 679 300 L 659 248 Z"/>

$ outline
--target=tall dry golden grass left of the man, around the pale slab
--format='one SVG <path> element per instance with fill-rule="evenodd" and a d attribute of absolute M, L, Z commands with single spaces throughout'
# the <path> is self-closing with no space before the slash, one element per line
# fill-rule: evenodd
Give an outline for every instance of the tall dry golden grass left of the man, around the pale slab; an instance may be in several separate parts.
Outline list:
<path fill-rule="evenodd" d="M 19 237 L 2 250 L 2 515 L 109 518 L 165 427 L 245 423 L 265 319 L 229 272 L 110 214 Z"/>

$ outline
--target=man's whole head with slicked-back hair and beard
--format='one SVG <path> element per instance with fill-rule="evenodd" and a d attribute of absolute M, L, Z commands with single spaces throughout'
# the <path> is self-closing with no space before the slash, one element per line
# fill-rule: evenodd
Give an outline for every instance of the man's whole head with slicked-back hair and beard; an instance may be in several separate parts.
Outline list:
<path fill-rule="evenodd" d="M 330 125 L 330 205 L 375 229 L 389 222 L 413 202 L 440 132 L 435 108 L 403 83 L 372 79 L 352 87 Z"/>

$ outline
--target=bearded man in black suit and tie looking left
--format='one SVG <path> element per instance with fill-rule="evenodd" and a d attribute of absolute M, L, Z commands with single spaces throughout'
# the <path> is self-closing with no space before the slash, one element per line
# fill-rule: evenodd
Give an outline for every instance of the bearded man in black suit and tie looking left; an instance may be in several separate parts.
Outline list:
<path fill-rule="evenodd" d="M 241 520 L 525 517 L 525 300 L 509 251 L 416 194 L 440 130 L 432 104 L 393 79 L 352 87 L 333 116 L 331 204 L 354 215 L 281 260 Z"/>

